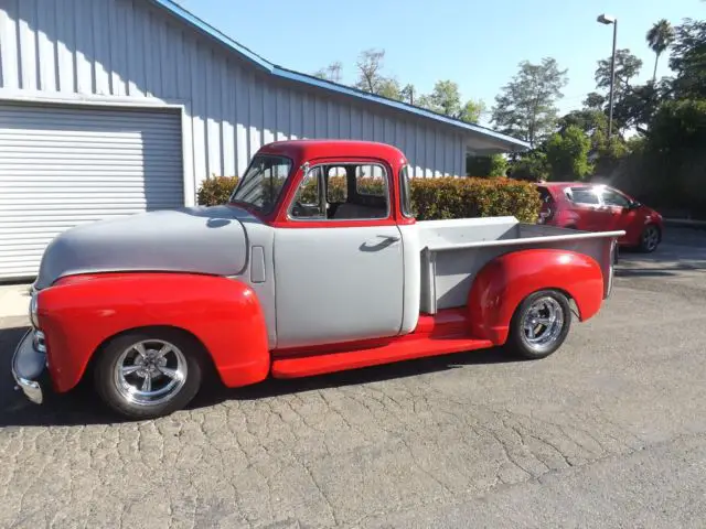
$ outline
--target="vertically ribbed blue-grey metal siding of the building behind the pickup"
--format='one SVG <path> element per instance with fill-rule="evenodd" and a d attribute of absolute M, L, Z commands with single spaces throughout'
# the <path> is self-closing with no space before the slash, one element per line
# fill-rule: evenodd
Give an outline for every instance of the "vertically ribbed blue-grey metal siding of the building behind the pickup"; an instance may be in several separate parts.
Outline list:
<path fill-rule="evenodd" d="M 439 155 L 458 150 L 451 126 L 255 68 L 143 0 L 0 0 L 0 88 L 175 99 L 190 112 L 195 188 L 287 138 L 387 141 L 415 176 L 458 172 L 462 154 L 453 169 Z"/>

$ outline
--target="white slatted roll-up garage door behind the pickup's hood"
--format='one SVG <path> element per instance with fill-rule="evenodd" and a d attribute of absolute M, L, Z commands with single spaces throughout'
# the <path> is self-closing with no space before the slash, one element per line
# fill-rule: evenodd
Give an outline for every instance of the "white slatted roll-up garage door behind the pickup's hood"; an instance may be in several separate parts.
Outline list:
<path fill-rule="evenodd" d="M 69 227 L 182 206 L 181 144 L 173 112 L 0 104 L 0 280 Z"/>

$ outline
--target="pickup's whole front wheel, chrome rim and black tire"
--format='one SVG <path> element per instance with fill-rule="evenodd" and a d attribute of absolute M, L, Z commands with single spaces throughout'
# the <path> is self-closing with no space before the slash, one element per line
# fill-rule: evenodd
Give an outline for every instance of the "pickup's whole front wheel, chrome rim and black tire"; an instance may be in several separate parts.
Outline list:
<path fill-rule="evenodd" d="M 199 392 L 202 358 L 201 345 L 179 332 L 130 332 L 103 347 L 94 386 L 103 401 L 126 418 L 167 415 Z"/>

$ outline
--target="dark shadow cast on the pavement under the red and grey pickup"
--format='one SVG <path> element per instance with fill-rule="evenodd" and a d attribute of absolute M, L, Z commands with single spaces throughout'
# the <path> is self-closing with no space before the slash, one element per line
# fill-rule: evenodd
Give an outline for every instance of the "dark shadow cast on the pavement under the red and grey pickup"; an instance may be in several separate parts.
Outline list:
<path fill-rule="evenodd" d="M 14 346 L 26 327 L 0 330 L 0 364 L 10 366 Z M 430 358 L 405 360 L 383 366 L 366 367 L 317 377 L 277 380 L 268 379 L 244 388 L 229 389 L 218 381 L 207 384 L 188 409 L 203 409 L 227 401 L 249 401 L 323 390 L 334 387 L 357 386 L 456 369 L 469 365 L 523 361 L 510 358 L 499 349 L 454 353 Z M 126 422 L 105 409 L 87 384 L 79 385 L 67 395 L 50 396 L 47 402 L 36 406 L 14 390 L 9 369 L 0 377 L 0 428 L 7 427 L 72 427 Z"/>

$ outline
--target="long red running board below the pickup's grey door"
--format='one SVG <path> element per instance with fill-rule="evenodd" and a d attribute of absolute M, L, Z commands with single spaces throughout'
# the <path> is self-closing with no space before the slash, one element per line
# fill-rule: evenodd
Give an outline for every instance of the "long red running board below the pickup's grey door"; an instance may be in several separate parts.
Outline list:
<path fill-rule="evenodd" d="M 489 347 L 493 347 L 491 341 L 470 338 L 464 335 L 443 338 L 399 339 L 379 347 L 276 359 L 272 361 L 271 376 L 274 378 L 310 377 Z"/>

